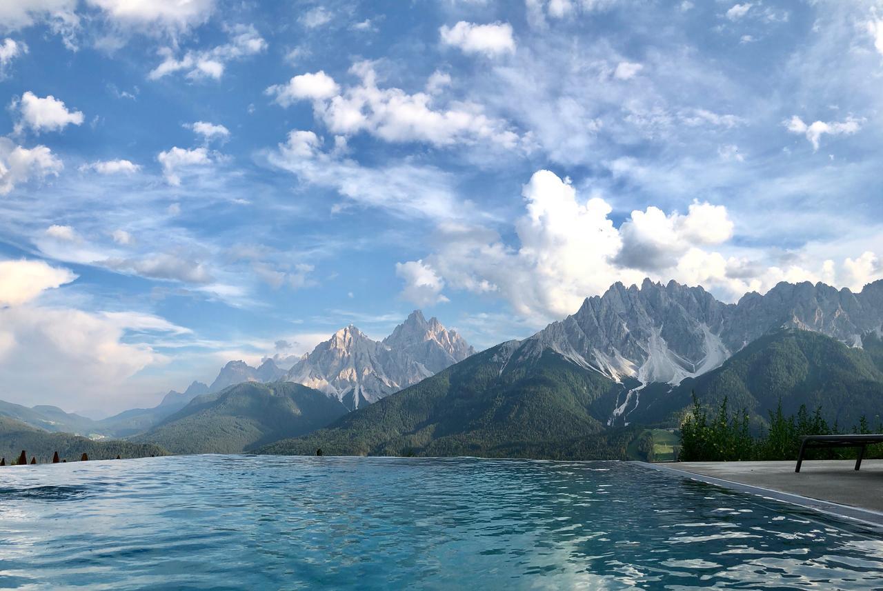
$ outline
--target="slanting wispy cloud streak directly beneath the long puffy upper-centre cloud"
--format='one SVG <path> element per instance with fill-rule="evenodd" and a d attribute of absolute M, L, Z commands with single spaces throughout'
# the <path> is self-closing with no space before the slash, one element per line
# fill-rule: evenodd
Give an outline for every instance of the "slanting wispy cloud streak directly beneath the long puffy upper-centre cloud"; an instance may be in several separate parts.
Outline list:
<path fill-rule="evenodd" d="M 322 143 L 313 131 L 293 130 L 267 158 L 302 183 L 332 189 L 353 203 L 397 216 L 451 219 L 470 213 L 456 197 L 454 179 L 437 168 L 408 161 L 367 168 L 343 155 L 340 147 L 345 142 L 336 142 L 328 151 L 322 150 Z"/>

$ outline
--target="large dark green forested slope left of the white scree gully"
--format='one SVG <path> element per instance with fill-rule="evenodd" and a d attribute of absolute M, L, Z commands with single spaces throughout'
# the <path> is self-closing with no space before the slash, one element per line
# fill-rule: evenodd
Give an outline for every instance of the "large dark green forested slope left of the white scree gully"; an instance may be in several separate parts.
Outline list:
<path fill-rule="evenodd" d="M 328 429 L 259 453 L 624 457 L 630 436 L 603 432 L 593 410 L 623 386 L 551 352 L 507 367 L 515 347 L 472 355 Z"/>

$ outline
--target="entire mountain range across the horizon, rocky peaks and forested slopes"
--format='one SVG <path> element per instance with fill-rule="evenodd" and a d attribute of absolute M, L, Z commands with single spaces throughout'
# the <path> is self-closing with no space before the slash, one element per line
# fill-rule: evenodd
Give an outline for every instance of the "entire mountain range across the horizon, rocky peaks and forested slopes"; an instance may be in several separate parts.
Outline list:
<path fill-rule="evenodd" d="M 230 362 L 211 386 L 102 422 L 5 403 L 0 415 L 174 453 L 623 457 L 636 426 L 677 426 L 693 392 L 760 424 L 780 400 L 841 427 L 883 415 L 881 335 L 883 281 L 859 293 L 780 283 L 738 303 L 675 281 L 617 283 L 479 354 L 415 311 L 384 340 L 350 325 L 289 370 Z"/>

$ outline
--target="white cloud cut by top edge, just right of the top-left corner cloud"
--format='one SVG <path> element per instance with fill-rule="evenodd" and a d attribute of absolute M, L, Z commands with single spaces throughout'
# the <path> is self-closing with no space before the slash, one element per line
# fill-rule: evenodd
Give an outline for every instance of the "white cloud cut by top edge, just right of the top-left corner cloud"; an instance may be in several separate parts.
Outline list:
<path fill-rule="evenodd" d="M 87 0 L 105 16 L 125 26 L 156 25 L 171 33 L 201 25 L 215 10 L 215 0 Z"/>

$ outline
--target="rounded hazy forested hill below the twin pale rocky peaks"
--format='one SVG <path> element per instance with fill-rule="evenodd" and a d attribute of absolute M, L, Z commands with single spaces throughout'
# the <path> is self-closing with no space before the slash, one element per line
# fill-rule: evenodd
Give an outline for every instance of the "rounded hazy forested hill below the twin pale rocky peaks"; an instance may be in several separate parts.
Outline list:
<path fill-rule="evenodd" d="M 346 412 L 339 400 L 305 385 L 245 382 L 194 398 L 130 440 L 162 445 L 171 453 L 242 453 L 320 429 Z"/>

